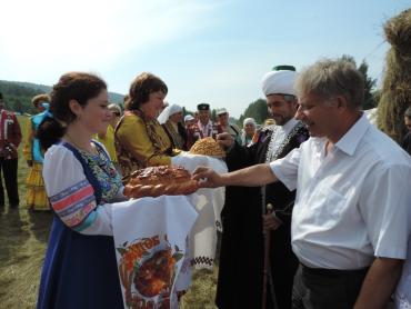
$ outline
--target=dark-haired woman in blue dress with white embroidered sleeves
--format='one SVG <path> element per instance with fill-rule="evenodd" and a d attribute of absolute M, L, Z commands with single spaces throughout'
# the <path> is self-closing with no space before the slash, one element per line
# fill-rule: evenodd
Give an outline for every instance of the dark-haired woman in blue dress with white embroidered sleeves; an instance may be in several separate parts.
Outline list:
<path fill-rule="evenodd" d="M 37 308 L 123 308 L 111 228 L 110 201 L 122 183 L 106 149 L 91 137 L 110 120 L 107 86 L 71 72 L 51 92 L 39 126 L 43 178 L 54 219 Z"/>

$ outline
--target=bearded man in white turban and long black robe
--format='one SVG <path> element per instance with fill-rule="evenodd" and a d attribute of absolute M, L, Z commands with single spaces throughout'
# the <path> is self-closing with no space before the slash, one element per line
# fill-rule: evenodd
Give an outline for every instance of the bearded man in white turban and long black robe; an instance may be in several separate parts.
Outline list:
<path fill-rule="evenodd" d="M 309 138 L 308 130 L 293 116 L 298 109 L 291 66 L 281 66 L 262 79 L 267 107 L 275 124 L 254 136 L 254 142 L 241 147 L 227 133 L 218 136 L 229 147 L 229 171 L 271 162 L 285 157 Z M 271 233 L 270 272 L 267 280 L 267 308 L 291 308 L 293 276 L 298 260 L 291 250 L 291 212 L 295 191 L 281 182 L 264 187 L 227 187 L 222 210 L 220 267 L 215 303 L 219 309 L 261 308 L 263 295 L 263 226 Z M 273 212 L 265 215 L 267 205 Z M 274 305 L 277 303 L 277 306 Z"/>

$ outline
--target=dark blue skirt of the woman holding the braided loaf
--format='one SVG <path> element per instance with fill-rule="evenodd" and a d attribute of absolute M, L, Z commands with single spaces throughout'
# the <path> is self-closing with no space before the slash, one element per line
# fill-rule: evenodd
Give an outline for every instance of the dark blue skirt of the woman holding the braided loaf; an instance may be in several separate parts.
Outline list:
<path fill-rule="evenodd" d="M 113 238 L 81 235 L 54 217 L 37 308 L 124 308 Z"/>

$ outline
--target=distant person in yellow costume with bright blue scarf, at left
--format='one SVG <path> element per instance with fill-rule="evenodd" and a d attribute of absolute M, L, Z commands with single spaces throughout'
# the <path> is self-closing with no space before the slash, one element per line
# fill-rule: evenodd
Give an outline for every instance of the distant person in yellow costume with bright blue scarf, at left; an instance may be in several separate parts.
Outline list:
<path fill-rule="evenodd" d="M 37 128 L 48 114 L 50 98 L 48 94 L 38 94 L 31 102 L 39 113 L 29 118 L 27 140 L 23 148 L 23 156 L 30 168 L 26 179 L 26 205 L 30 210 L 50 210 L 49 200 L 44 191 L 44 181 L 41 175 L 44 158 L 39 140 L 36 137 Z"/>

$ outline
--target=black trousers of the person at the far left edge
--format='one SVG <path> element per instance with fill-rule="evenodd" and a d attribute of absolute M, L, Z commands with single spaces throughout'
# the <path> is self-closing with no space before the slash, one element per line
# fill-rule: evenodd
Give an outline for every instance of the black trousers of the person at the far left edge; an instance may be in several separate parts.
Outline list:
<path fill-rule="evenodd" d="M 19 205 L 19 190 L 17 185 L 17 169 L 19 159 L 4 159 L 0 157 L 0 173 L 3 172 L 7 196 L 10 206 Z M 0 206 L 4 206 L 4 189 L 0 175 Z"/>

